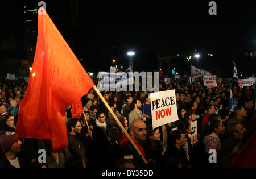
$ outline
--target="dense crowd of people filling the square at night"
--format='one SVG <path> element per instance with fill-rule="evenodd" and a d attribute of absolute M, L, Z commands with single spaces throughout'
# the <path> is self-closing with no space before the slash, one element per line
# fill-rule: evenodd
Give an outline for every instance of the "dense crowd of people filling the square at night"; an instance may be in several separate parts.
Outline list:
<path fill-rule="evenodd" d="M 159 91 L 175 90 L 179 116 L 165 124 L 165 131 L 152 128 L 149 91 L 102 92 L 125 132 L 92 88 L 81 98 L 85 113 L 80 119 L 72 118 L 72 105 L 65 107 L 68 148 L 55 152 L 51 140 L 13 138 L 27 85 L 23 78 L 0 83 L 0 167 L 225 168 L 256 130 L 255 84 L 241 88 L 236 80 L 223 80 L 207 88 L 201 78 L 192 84 L 185 78 L 168 83 L 160 78 Z M 234 111 L 228 110 L 230 90 Z M 198 141 L 192 144 L 194 121 Z M 46 160 L 39 161 L 39 149 L 46 151 Z M 217 153 L 213 162 L 212 151 Z"/>

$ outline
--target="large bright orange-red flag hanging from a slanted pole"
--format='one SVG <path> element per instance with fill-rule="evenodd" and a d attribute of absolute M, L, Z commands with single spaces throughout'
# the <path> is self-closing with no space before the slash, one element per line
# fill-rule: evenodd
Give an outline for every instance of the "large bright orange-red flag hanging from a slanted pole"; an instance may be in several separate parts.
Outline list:
<path fill-rule="evenodd" d="M 20 103 L 15 138 L 52 140 L 53 151 L 68 147 L 65 106 L 94 86 L 43 7 L 26 95 Z"/>

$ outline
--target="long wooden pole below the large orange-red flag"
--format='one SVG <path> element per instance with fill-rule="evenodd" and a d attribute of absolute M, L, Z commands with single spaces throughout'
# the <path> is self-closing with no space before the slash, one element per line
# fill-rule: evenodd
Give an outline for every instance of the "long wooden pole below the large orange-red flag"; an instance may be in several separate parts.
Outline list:
<path fill-rule="evenodd" d="M 117 118 L 117 116 L 114 114 L 113 110 L 110 108 L 109 104 L 106 102 L 106 100 L 104 99 L 104 97 L 102 96 L 102 94 L 100 93 L 100 91 L 98 90 L 98 88 L 94 85 L 93 89 L 96 91 L 96 93 L 99 95 L 99 97 L 101 98 L 101 101 L 104 102 L 104 105 L 106 106 L 106 108 L 110 111 L 110 113 L 113 115 L 115 122 L 118 123 L 119 127 L 122 129 L 122 131 L 125 133 L 126 137 L 130 140 L 131 144 L 133 144 L 133 146 L 135 147 L 135 149 L 137 150 L 137 152 L 139 153 L 139 155 L 142 156 L 142 159 L 144 161 L 144 163 L 147 164 L 147 160 L 145 159 L 145 157 L 142 155 L 141 151 L 139 151 L 137 145 L 134 143 L 133 139 L 131 139 L 131 136 L 127 133 L 127 131 L 125 130 L 125 128 L 123 127 L 123 125 L 121 124 L 120 120 Z"/>

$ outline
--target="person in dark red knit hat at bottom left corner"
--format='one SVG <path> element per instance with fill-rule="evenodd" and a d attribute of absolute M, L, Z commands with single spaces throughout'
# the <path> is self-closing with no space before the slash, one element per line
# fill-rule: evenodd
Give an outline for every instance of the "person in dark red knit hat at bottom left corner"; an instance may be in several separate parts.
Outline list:
<path fill-rule="evenodd" d="M 18 157 L 21 152 L 22 141 L 14 139 L 14 132 L 1 131 L 0 145 L 3 156 L 0 159 L 0 168 L 22 168 L 22 160 Z"/>

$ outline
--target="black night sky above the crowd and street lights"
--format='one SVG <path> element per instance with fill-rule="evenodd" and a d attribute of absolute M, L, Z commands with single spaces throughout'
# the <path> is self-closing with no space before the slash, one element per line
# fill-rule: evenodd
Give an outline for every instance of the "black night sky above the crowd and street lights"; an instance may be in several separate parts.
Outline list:
<path fill-rule="evenodd" d="M 158 70 L 158 55 L 189 56 L 196 49 L 201 65 L 213 73 L 228 77 L 224 72 L 233 72 L 235 60 L 238 74 L 255 74 L 255 68 L 247 66 L 255 66 L 256 59 L 246 53 L 256 51 L 256 1 L 215 1 L 217 15 L 209 15 L 210 1 L 80 1 L 76 29 L 71 27 L 71 1 L 44 2 L 86 71 L 108 70 L 113 59 L 127 68 L 130 49 L 135 51 L 135 70 Z M 1 4 L 0 54 L 23 56 L 23 7 L 37 2 Z M 80 45 L 72 45 L 74 39 L 80 39 Z M 209 60 L 208 53 L 214 59 Z"/>

